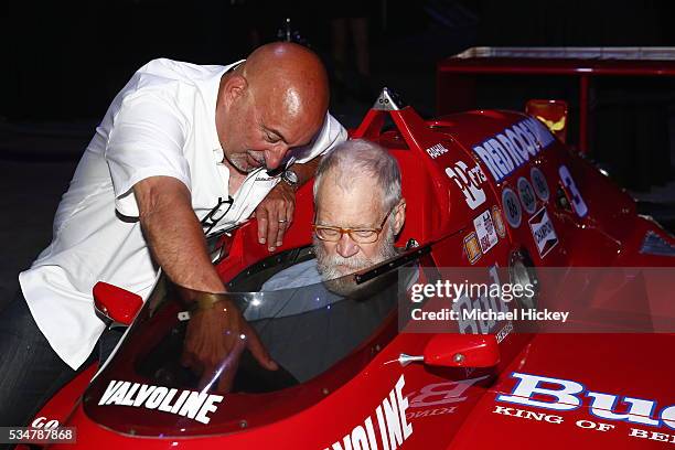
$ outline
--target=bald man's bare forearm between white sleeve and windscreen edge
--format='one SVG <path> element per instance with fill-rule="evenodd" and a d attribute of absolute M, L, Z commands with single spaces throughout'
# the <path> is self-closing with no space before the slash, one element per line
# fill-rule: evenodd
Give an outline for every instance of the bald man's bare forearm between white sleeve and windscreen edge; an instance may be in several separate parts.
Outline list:
<path fill-rule="evenodd" d="M 151 176 L 138 182 L 133 194 L 146 240 L 167 276 L 191 289 L 225 291 L 208 257 L 188 188 L 171 176 Z"/>

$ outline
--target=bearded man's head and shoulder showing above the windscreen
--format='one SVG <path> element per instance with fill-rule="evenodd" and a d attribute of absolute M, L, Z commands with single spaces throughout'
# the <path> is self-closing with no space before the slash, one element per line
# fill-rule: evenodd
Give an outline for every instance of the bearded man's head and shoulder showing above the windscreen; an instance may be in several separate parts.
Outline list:
<path fill-rule="evenodd" d="M 317 259 L 277 274 L 264 291 L 324 281 L 347 296 L 355 285 L 346 275 L 396 256 L 394 240 L 406 218 L 396 159 L 366 140 L 336 146 L 317 169 L 314 210 Z"/>

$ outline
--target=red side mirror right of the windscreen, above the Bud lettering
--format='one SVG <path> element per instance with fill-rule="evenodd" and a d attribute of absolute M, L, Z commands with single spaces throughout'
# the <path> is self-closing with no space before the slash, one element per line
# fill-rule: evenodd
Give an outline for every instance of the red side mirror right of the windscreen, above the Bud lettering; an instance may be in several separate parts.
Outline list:
<path fill-rule="evenodd" d="M 500 363 L 500 346 L 494 334 L 450 334 L 431 338 L 424 355 L 411 356 L 401 353 L 401 365 L 422 362 L 440 367 L 493 367 Z"/>

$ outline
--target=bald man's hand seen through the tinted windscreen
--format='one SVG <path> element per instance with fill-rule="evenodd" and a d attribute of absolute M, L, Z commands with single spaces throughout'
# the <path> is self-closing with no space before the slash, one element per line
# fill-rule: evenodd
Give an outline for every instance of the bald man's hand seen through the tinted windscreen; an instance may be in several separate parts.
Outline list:
<path fill-rule="evenodd" d="M 217 392 L 227 393 L 232 389 L 239 357 L 246 347 L 262 367 L 268 371 L 279 368 L 234 303 L 221 300 L 212 308 L 192 314 L 181 363 L 201 376 L 200 389 L 213 386 L 219 378 Z"/>

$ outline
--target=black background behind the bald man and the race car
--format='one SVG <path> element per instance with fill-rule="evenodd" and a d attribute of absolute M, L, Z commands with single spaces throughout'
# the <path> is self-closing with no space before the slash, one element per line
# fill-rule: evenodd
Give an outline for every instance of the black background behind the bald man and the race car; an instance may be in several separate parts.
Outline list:
<path fill-rule="evenodd" d="M 667 1 L 6 1 L 0 7 L 0 297 L 15 287 L 51 239 L 51 222 L 94 128 L 132 73 L 156 57 L 227 64 L 277 39 L 292 19 L 333 75 L 333 114 L 358 125 L 379 88 L 435 114 L 439 58 L 476 45 L 675 45 Z M 331 20 L 368 21 L 369 74 L 331 52 Z M 355 49 L 352 49 L 354 51 Z M 354 52 L 351 52 L 353 54 Z M 335 76 L 342 73 L 341 78 Z M 564 98 L 576 124 L 569 79 L 481 79 L 476 107 L 523 109 L 528 98 Z M 668 81 L 593 84 L 591 148 L 635 196 L 668 205 L 673 92 Z M 570 133 L 575 136 L 574 132 Z M 572 142 L 574 143 L 574 142 Z M 673 159 L 675 160 L 675 159 Z M 664 214 L 668 214 L 667 212 Z M 667 216 L 665 219 L 667 221 Z M 673 218 L 673 217 L 671 217 Z M 7 292 L 6 292 L 7 291 Z"/>

